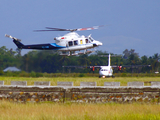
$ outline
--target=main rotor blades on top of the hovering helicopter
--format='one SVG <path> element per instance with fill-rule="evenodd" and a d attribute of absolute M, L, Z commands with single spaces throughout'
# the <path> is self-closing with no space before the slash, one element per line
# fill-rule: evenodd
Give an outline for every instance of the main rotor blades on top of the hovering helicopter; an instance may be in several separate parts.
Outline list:
<path fill-rule="evenodd" d="M 34 30 L 34 31 L 35 32 L 43 32 L 43 31 L 70 31 L 70 32 L 74 32 L 74 31 L 83 31 L 83 30 L 94 30 L 94 29 L 98 29 L 99 27 L 103 27 L 103 26 L 104 25 L 87 27 L 87 28 L 78 28 L 78 29 L 62 29 L 62 28 L 46 27 L 46 29 L 48 29 L 48 30 Z"/>

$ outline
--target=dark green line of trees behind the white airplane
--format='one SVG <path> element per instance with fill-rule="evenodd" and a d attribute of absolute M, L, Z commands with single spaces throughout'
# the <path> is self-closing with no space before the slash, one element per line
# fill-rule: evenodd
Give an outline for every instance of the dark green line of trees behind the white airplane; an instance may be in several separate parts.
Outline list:
<path fill-rule="evenodd" d="M 63 68 L 62 66 L 95 66 L 95 65 L 108 65 L 108 55 L 106 51 L 97 51 L 94 54 L 80 55 L 80 56 L 60 56 L 55 51 L 30 51 L 25 55 L 21 55 L 21 50 L 7 49 L 5 46 L 0 48 L 0 71 L 10 66 L 15 66 L 25 72 L 37 72 L 37 73 L 88 73 L 90 69 L 84 68 Z M 122 55 L 116 55 L 110 53 L 111 65 L 151 65 L 151 67 L 143 68 L 124 68 L 122 72 L 142 72 L 153 73 L 159 71 L 159 59 L 158 53 L 153 56 L 140 57 L 134 49 L 125 49 Z M 96 70 L 95 72 L 98 72 Z M 118 70 L 114 70 L 119 72 Z"/>

